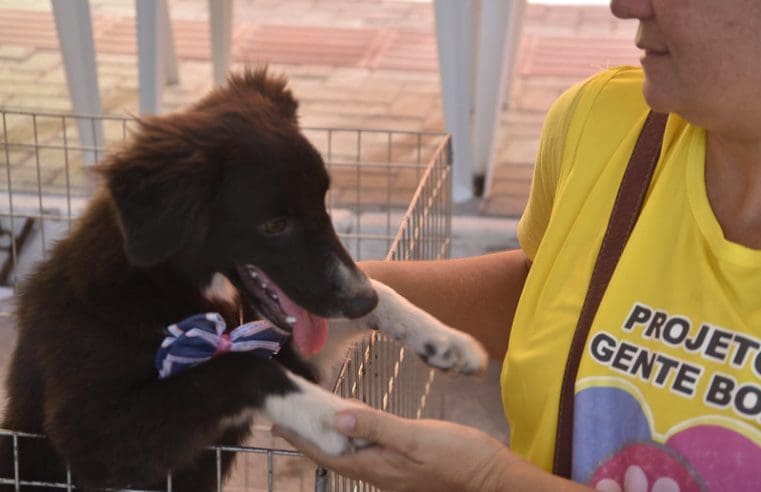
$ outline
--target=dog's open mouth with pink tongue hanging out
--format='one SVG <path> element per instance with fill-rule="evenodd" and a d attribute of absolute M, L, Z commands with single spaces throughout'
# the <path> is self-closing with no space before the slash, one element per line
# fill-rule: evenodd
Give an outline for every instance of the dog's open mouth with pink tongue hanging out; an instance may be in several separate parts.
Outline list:
<path fill-rule="evenodd" d="M 296 304 L 260 268 L 236 263 L 248 301 L 276 328 L 293 335 L 296 348 L 305 356 L 319 352 L 328 338 L 328 321 Z"/>

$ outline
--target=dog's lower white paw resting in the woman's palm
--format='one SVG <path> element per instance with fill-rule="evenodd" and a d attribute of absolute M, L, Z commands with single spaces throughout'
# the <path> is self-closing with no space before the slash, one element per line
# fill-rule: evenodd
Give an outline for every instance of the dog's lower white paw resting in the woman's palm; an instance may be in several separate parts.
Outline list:
<path fill-rule="evenodd" d="M 355 443 L 332 428 L 336 412 L 357 404 L 339 398 L 299 376 L 290 373 L 288 376 L 297 391 L 268 396 L 264 402 L 264 411 L 274 423 L 296 432 L 328 454 L 339 455 L 362 446 L 362 443 Z"/>

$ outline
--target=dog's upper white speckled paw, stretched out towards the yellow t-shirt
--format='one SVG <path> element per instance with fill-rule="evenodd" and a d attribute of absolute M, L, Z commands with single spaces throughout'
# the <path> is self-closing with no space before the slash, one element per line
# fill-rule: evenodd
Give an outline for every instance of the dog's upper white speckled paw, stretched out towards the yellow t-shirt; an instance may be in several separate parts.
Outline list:
<path fill-rule="evenodd" d="M 463 374 L 486 370 L 489 357 L 475 338 L 445 325 L 389 286 L 372 282 L 378 292 L 378 306 L 368 315 L 370 324 L 414 350 L 433 367 Z"/>

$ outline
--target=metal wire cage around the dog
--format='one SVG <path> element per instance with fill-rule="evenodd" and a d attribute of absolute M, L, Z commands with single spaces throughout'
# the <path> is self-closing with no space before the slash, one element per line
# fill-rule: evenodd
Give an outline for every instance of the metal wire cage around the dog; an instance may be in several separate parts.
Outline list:
<path fill-rule="evenodd" d="M 65 235 L 96 190 L 90 171 L 129 136 L 135 121 L 122 116 L 81 116 L 0 108 L 0 363 L 13 347 L 16 286 Z M 305 128 L 331 176 L 327 205 L 334 227 L 355 259 L 437 259 L 449 256 L 451 150 L 440 133 Z M 94 142 L 82 144 L 80 142 Z M 436 416 L 431 405 L 434 372 L 412 353 L 377 333 L 342 352 L 324 383 L 343 397 L 397 415 Z M 4 375 L 4 373 L 3 373 Z M 0 390 L 2 391 L 2 390 Z M 4 394 L 0 395 L 4 397 Z M 4 398 L 3 398 L 4 399 Z M 317 468 L 285 441 L 256 424 L 245 446 L 215 447 L 217 463 L 236 453 L 222 491 L 369 491 Z M 15 476 L 0 477 L 3 490 L 47 486 L 76 490 L 69 474 L 61 483 L 30 483 L 18 477 L 24 439 L 44 436 L 0 429 L 14 444 Z M 218 466 L 218 470 L 221 467 Z M 166 488 L 172 490 L 171 476 Z"/>

